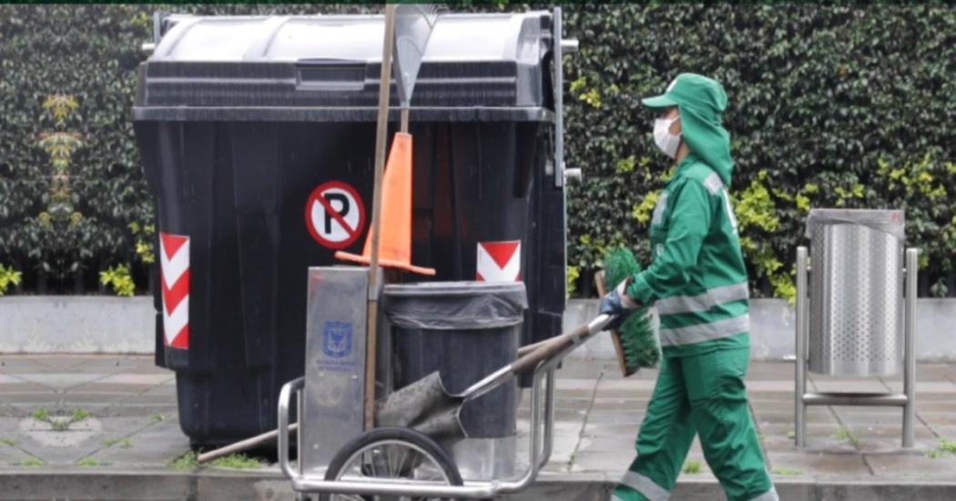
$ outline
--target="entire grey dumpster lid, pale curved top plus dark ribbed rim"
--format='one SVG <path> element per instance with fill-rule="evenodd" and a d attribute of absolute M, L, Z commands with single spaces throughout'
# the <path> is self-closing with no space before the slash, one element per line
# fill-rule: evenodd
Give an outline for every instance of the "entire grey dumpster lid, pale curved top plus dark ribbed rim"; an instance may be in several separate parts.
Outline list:
<path fill-rule="evenodd" d="M 381 15 L 174 14 L 159 26 L 136 120 L 375 120 Z M 412 119 L 550 121 L 551 29 L 548 11 L 441 14 Z"/>

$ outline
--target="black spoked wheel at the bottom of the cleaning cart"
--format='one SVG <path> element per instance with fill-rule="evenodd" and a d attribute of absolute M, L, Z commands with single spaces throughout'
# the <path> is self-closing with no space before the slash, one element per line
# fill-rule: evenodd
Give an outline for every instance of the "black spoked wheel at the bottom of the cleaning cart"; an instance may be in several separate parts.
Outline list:
<path fill-rule="evenodd" d="M 366 431 L 339 449 L 326 480 L 345 477 L 403 478 L 461 486 L 458 472 L 445 449 L 419 431 L 411 428 L 377 428 Z M 362 496 L 322 494 L 321 501 L 424 501 L 439 498 L 409 496 Z"/>

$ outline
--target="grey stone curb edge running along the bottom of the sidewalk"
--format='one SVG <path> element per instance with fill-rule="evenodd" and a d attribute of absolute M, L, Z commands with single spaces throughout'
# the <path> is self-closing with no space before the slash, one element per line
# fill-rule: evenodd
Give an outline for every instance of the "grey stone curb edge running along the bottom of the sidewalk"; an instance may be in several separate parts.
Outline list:
<path fill-rule="evenodd" d="M 508 501 L 606 501 L 614 483 L 595 476 L 541 479 L 531 489 L 506 496 Z M 956 481 L 887 480 L 858 482 L 813 479 L 777 479 L 784 501 L 890 501 L 956 499 Z M 275 470 L 3 470 L 0 500 L 182 501 L 293 499 L 289 482 Z M 720 486 L 710 480 L 682 480 L 672 499 L 712 501 L 724 499 Z"/>

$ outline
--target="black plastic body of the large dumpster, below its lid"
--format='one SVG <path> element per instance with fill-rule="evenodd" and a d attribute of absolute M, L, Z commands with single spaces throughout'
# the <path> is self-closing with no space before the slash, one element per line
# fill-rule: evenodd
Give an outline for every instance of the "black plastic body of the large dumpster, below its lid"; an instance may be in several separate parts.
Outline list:
<path fill-rule="evenodd" d="M 375 124 L 138 120 L 135 129 L 159 230 L 190 237 L 189 349 L 157 353 L 177 371 L 181 426 L 206 445 L 274 428 L 279 388 L 303 373 L 305 270 L 338 263 L 307 231 L 306 199 L 339 180 L 370 207 Z M 477 242 L 522 240 L 523 343 L 557 334 L 564 309 L 550 131 L 509 121 L 411 130 L 413 261 L 435 267 L 436 280 L 474 280 Z M 162 345 L 161 313 L 157 336 Z"/>

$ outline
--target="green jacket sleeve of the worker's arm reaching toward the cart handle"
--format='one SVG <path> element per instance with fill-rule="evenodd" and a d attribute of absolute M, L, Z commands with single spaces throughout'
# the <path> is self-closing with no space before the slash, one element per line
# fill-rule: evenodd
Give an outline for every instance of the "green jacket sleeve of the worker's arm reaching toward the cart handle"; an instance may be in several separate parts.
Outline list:
<path fill-rule="evenodd" d="M 670 195 L 669 204 L 663 252 L 658 254 L 652 249 L 654 261 L 627 288 L 627 295 L 642 305 L 683 290 L 710 227 L 710 195 L 700 181 L 686 179 Z"/>

